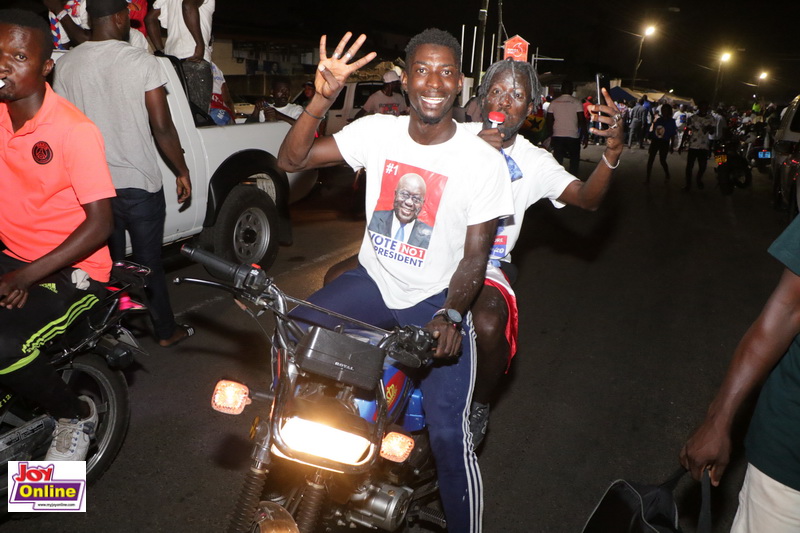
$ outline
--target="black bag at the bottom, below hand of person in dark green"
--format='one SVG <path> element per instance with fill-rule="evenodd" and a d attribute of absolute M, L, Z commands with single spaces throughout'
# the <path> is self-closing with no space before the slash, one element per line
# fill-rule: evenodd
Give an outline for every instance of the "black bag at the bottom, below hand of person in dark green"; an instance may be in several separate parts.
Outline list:
<path fill-rule="evenodd" d="M 686 471 L 681 468 L 661 485 L 619 479 L 595 507 L 583 533 L 681 533 L 673 491 Z M 711 480 L 703 474 L 703 503 L 698 533 L 711 532 Z"/>

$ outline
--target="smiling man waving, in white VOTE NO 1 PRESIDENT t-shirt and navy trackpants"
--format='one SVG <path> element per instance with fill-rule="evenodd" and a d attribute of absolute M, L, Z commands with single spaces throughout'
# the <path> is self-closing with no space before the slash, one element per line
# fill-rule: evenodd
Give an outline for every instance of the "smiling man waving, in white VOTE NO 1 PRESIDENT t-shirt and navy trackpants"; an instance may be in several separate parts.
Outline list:
<path fill-rule="evenodd" d="M 409 173 L 426 183 L 419 220 L 430 240 L 417 246 L 365 230 L 359 267 L 349 270 L 309 300 L 376 326 L 425 326 L 438 339 L 435 363 L 421 379 L 439 493 L 448 529 L 477 532 L 482 523 L 482 482 L 468 430 L 475 379 L 472 318 L 468 313 L 485 277 L 497 219 L 513 212 L 505 161 L 491 146 L 452 118 L 463 84 L 461 47 L 450 34 L 429 29 L 406 48 L 402 85 L 410 114 L 370 115 L 333 137 L 314 138 L 348 76 L 374 53 L 351 59 L 366 37 L 345 50 L 350 34 L 327 55 L 320 42 L 317 92 L 286 136 L 278 162 L 284 170 L 346 162 L 367 169 L 367 221 L 392 209 L 400 178 Z M 407 198 L 423 204 L 423 199 Z M 330 326 L 319 313 L 293 315 Z M 459 352 L 461 355 L 459 356 Z"/>

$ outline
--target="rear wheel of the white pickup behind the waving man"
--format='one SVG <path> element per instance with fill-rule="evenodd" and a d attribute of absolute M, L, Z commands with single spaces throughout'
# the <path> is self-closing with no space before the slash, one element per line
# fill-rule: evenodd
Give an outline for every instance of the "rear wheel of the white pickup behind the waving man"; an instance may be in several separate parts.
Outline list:
<path fill-rule="evenodd" d="M 278 256 L 278 210 L 267 193 L 237 185 L 211 228 L 214 253 L 235 263 L 269 269 Z"/>

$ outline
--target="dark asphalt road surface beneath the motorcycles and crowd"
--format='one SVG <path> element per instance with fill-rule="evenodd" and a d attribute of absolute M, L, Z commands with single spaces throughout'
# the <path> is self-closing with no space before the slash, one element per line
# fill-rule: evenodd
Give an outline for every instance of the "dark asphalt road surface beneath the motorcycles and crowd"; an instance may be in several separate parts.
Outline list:
<path fill-rule="evenodd" d="M 582 174 L 599 156 L 600 147 L 584 151 Z M 514 254 L 520 348 L 481 450 L 489 533 L 580 531 L 614 479 L 670 474 L 778 278 L 765 250 L 784 221 L 769 206 L 766 177 L 723 197 L 708 172 L 703 191 L 683 193 L 685 155 L 670 156 L 670 182 L 658 168 L 649 185 L 645 158 L 626 150 L 597 212 L 542 204 L 526 219 Z M 363 222 L 346 213 L 346 181 L 325 178 L 295 206 L 295 245 L 273 268 L 287 292 L 309 294 L 357 250 Z M 171 275 L 205 275 L 171 265 Z M 129 373 L 128 438 L 90 488 L 88 512 L 15 519 L 0 533 L 224 529 L 250 417 L 211 411 L 209 396 L 220 377 L 266 379 L 268 344 L 224 295 L 179 286 L 173 301 L 198 333 L 172 350 L 144 339 L 150 355 Z M 739 460 L 714 492 L 718 531 L 735 510 L 741 472 Z M 679 486 L 690 530 L 698 494 L 689 480 Z"/>

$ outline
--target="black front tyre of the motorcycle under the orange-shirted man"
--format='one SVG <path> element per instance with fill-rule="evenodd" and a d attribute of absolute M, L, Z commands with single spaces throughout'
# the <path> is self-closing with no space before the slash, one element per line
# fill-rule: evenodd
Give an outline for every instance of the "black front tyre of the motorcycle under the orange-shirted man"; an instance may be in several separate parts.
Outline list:
<path fill-rule="evenodd" d="M 86 481 L 92 483 L 111 466 L 128 432 L 128 384 L 122 372 L 111 370 L 94 354 L 77 357 L 57 370 L 73 391 L 90 397 L 97 406 L 97 430 L 86 456 Z"/>

